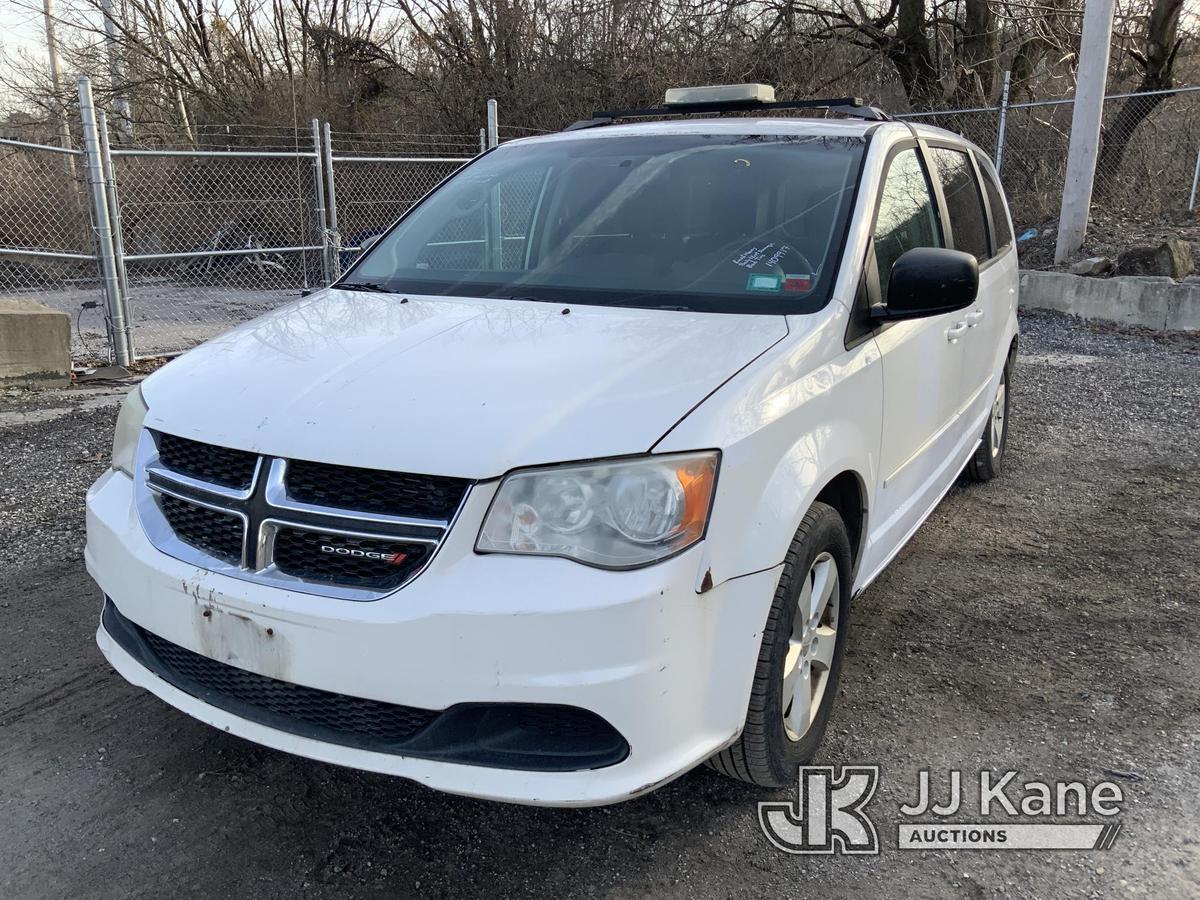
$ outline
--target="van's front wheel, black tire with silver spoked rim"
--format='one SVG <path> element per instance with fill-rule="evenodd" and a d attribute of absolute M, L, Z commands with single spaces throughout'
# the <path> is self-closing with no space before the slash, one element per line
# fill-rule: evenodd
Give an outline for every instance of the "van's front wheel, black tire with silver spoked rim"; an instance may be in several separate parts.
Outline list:
<path fill-rule="evenodd" d="M 836 577 L 836 583 L 832 586 L 828 584 L 830 574 Z M 822 586 L 828 590 L 822 592 Z M 810 590 L 804 592 L 805 587 Z M 796 532 L 784 560 L 784 571 L 763 629 L 742 736 L 709 760 L 709 767 L 730 778 L 762 787 L 794 784 L 797 768 L 811 760 L 821 744 L 838 695 L 846 631 L 850 626 L 850 588 L 851 557 L 846 526 L 833 506 L 814 503 Z M 816 641 L 805 644 L 800 640 L 805 634 L 804 622 L 797 622 L 799 604 L 802 596 L 811 598 L 818 593 L 827 596 L 823 608 L 818 610 L 821 626 L 815 634 L 808 632 Z M 820 599 L 817 606 L 821 606 Z M 826 638 L 826 647 L 832 643 L 832 653 L 821 647 L 822 637 Z M 806 653 L 808 648 L 811 648 L 811 655 Z M 785 664 L 797 659 L 800 665 L 791 670 L 796 672 L 792 684 L 809 685 L 809 696 L 812 697 L 809 725 L 803 731 L 785 722 L 788 713 L 793 714 L 793 724 L 802 722 L 805 718 L 794 698 L 786 706 L 784 700 Z M 808 664 L 808 682 L 803 677 L 803 662 L 806 659 L 811 660 Z M 802 690 L 797 690 L 796 697 L 802 696 Z"/>

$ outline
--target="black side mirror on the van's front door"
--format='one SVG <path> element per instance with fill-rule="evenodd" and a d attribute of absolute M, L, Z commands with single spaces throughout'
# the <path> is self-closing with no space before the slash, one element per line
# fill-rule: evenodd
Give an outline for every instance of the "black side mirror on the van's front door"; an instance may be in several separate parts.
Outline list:
<path fill-rule="evenodd" d="M 919 319 L 961 310 L 979 293 L 979 264 L 970 253 L 913 247 L 900 256 L 888 278 L 887 306 L 872 306 L 876 322 Z"/>

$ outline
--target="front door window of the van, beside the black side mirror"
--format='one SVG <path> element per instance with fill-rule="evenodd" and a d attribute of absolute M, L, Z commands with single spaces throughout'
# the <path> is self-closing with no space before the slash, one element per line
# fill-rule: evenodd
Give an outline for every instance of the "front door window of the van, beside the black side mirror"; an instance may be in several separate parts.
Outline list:
<path fill-rule="evenodd" d="M 913 247 L 942 247 L 934 196 L 916 149 L 901 150 L 888 167 L 875 220 L 875 263 L 880 272 L 880 299 L 888 300 L 892 266 Z"/>

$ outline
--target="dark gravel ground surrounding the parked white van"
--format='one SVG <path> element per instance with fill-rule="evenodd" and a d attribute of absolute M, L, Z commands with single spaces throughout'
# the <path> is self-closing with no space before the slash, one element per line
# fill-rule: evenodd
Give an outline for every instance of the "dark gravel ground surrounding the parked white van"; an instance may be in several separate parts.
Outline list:
<path fill-rule="evenodd" d="M 109 671 L 83 491 L 118 395 L 0 397 L 0 896 L 1198 896 L 1200 340 L 1022 319 L 1003 475 L 857 601 L 820 761 L 877 763 L 877 857 L 697 769 L 617 806 L 443 796 L 265 750 Z M 1111 779 L 1105 852 L 908 852 L 916 773 Z M 972 775 L 973 778 L 973 775 Z M 965 820 L 968 821 L 968 820 Z"/>

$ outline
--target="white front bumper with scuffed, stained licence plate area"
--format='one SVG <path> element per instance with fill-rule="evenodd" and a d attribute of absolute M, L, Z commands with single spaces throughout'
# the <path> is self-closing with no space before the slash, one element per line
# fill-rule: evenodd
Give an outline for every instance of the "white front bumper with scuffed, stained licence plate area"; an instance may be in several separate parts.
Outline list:
<path fill-rule="evenodd" d="M 745 718 L 779 570 L 698 594 L 701 547 L 659 565 L 601 571 L 552 558 L 473 552 L 491 499 L 481 485 L 428 569 L 354 602 L 254 584 L 156 550 L 132 481 L 88 494 L 88 571 L 131 622 L 179 647 L 269 678 L 385 703 L 577 707 L 610 722 L 629 755 L 604 768 L 532 772 L 377 752 L 234 715 L 163 680 L 102 626 L 127 680 L 223 731 L 300 756 L 439 790 L 541 805 L 644 793 L 733 740 Z"/>

